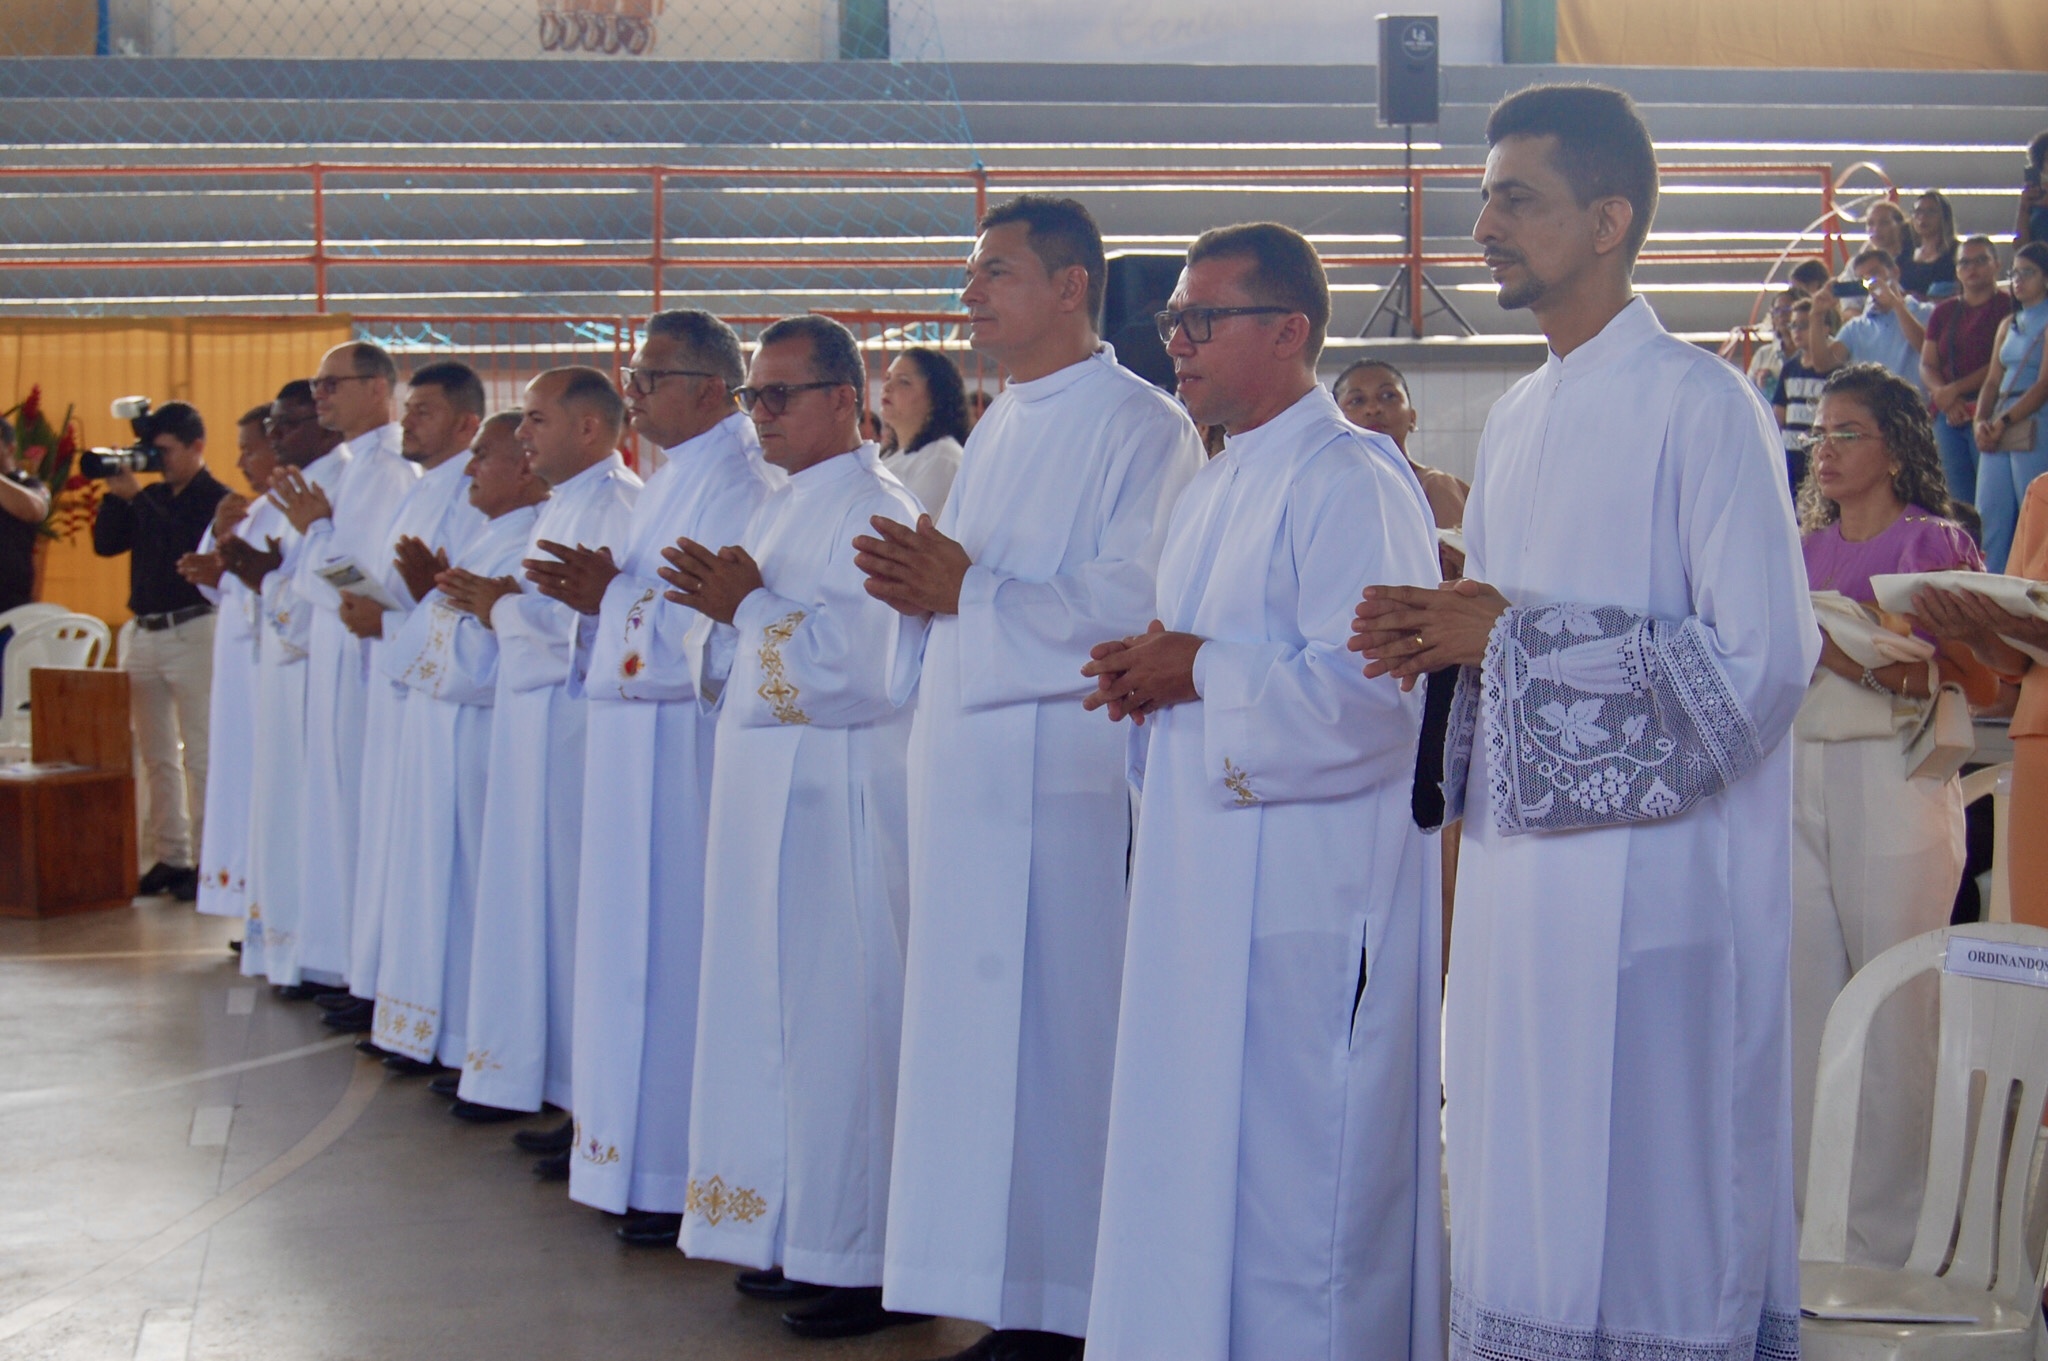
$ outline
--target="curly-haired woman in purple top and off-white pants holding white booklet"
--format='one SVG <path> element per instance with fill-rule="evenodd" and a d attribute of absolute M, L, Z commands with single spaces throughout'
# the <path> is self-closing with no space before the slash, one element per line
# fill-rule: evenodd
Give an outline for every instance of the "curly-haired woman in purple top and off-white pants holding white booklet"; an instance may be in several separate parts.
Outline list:
<path fill-rule="evenodd" d="M 1923 763 L 1913 737 L 1944 686 L 1960 684 L 1978 702 L 1997 698 L 1995 679 L 1964 649 L 1946 657 L 1931 639 L 1909 632 L 1905 618 L 1870 608 L 1872 575 L 1982 571 L 1976 544 L 1946 518 L 1942 456 L 1921 395 L 1876 364 L 1837 368 L 1808 450 L 1800 524 L 1823 641 L 1792 725 L 1792 1119 L 1802 1203 L 1827 1011 L 1872 958 L 1948 925 L 1962 880 L 1958 753 Z M 1966 710 L 1948 716 L 1968 722 Z M 1872 1048 L 1898 1081 L 1866 1087 L 1851 1261 L 1898 1265 L 1913 1244 L 1933 1093 L 1933 1007 L 1931 989 L 1909 989 L 1872 1031 Z"/>

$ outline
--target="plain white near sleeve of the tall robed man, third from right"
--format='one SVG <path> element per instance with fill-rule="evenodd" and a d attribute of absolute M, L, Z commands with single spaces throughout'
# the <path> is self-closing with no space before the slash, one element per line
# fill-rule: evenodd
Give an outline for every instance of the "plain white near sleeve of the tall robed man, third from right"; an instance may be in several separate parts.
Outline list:
<path fill-rule="evenodd" d="M 1081 675 L 1104 639 L 1143 632 L 1157 598 L 1159 548 L 1182 487 L 1202 467 L 1202 438 L 1165 407 L 1141 407 L 1110 458 L 1094 557 L 1049 581 L 967 569 L 961 583 L 961 698 L 969 708 L 1079 698 Z"/>

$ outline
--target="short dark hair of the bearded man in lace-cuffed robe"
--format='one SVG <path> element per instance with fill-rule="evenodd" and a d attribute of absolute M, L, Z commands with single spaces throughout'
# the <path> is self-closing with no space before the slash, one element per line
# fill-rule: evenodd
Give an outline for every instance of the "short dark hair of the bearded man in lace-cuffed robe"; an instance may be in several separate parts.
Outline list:
<path fill-rule="evenodd" d="M 1657 217 L 1657 149 L 1636 102 L 1595 84 L 1530 86 L 1487 115 L 1487 145 L 1507 137 L 1556 137 L 1556 172 L 1579 207 L 1620 196 L 1634 209 L 1624 250 L 1634 260 Z"/>

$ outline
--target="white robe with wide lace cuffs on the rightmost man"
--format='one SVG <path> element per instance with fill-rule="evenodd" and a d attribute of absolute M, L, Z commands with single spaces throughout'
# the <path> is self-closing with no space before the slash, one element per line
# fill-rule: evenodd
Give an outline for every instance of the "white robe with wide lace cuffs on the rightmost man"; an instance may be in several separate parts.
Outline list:
<path fill-rule="evenodd" d="M 1513 608 L 1446 743 L 1452 1357 L 1798 1355 L 1786 735 L 1819 634 L 1776 436 L 1642 299 L 1487 418 L 1466 573 Z"/>

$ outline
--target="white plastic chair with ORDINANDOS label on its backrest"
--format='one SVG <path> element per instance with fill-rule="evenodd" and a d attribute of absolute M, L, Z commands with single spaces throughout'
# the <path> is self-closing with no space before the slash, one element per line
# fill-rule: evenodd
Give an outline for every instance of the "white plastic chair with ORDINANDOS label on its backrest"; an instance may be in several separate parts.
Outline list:
<path fill-rule="evenodd" d="M 1837 1316 L 1802 1320 L 1806 1361 L 2030 1361 L 2034 1355 L 2042 1244 L 2030 1232 L 2038 1224 L 2030 1226 L 2028 1210 L 2048 1087 L 2048 986 L 1948 972 L 1952 939 L 2048 952 L 2048 931 L 2040 927 L 1944 927 L 1892 946 L 1835 999 L 1821 1036 L 1798 1255 L 1800 1306 Z M 1925 972 L 1942 976 L 1942 1031 L 1927 1193 L 1913 1253 L 1901 1269 L 1847 1265 L 1849 1175 L 1870 1019 L 1886 997 Z"/>

